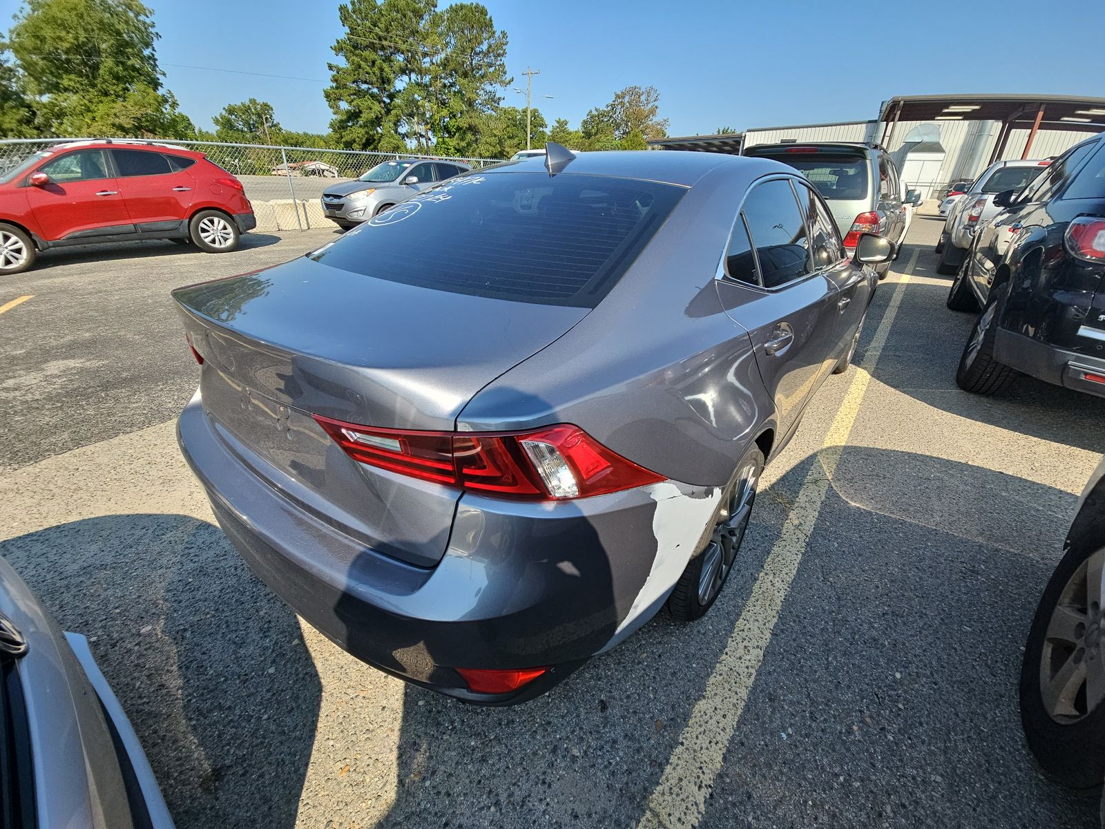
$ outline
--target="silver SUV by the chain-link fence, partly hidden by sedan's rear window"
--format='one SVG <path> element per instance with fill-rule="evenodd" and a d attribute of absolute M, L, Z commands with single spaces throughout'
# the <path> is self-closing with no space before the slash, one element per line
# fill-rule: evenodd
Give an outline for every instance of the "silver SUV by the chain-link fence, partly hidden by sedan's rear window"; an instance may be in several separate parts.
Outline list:
<path fill-rule="evenodd" d="M 464 164 L 422 158 L 383 161 L 358 179 L 327 187 L 323 192 L 323 212 L 339 228 L 348 230 L 392 204 L 406 201 L 435 181 L 444 181 L 470 169 Z"/>

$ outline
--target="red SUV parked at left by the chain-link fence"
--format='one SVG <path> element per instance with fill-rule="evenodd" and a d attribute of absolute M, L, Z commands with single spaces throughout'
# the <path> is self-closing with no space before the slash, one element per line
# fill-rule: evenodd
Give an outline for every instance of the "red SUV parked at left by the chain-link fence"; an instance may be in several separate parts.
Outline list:
<path fill-rule="evenodd" d="M 172 239 L 221 253 L 256 223 L 242 182 L 202 153 L 137 141 L 59 144 L 0 174 L 0 275 L 70 244 Z"/>

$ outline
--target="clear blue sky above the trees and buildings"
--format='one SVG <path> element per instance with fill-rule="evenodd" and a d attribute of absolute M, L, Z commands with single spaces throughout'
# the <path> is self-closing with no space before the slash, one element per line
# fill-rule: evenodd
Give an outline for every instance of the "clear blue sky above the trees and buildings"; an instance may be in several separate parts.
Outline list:
<path fill-rule="evenodd" d="M 146 2 L 161 35 L 167 85 L 198 126 L 211 128 L 223 105 L 256 97 L 272 103 L 286 128 L 327 129 L 323 88 L 341 30 L 337 2 Z M 660 90 L 672 135 L 871 118 L 895 94 L 1105 95 L 1102 27 L 1085 2 L 485 4 L 509 35 L 515 85 L 527 65 L 540 69 L 534 94 L 554 95 L 538 98 L 549 123 L 565 117 L 577 126 L 630 84 Z M 18 7 L 0 0 L 4 28 Z M 966 54 L 954 48 L 962 43 Z M 524 101 L 511 91 L 505 97 Z"/>

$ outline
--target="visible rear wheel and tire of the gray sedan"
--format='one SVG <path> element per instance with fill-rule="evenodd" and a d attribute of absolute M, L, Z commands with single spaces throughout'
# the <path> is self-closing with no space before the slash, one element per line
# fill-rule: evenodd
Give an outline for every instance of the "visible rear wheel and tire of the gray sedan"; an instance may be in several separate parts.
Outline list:
<path fill-rule="evenodd" d="M 720 595 L 748 529 L 762 471 L 764 453 L 753 444 L 737 464 L 733 482 L 725 487 L 706 544 L 687 563 L 667 599 L 667 609 L 676 619 L 699 618 Z"/>

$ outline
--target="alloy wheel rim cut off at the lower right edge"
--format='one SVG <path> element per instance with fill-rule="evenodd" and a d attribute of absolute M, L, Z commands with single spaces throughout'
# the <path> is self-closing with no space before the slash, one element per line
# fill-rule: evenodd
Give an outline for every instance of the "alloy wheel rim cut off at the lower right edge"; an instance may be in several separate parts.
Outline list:
<path fill-rule="evenodd" d="M 1105 697 L 1105 547 L 1074 571 L 1051 611 L 1040 659 L 1044 711 L 1067 725 L 1090 715 Z"/>

